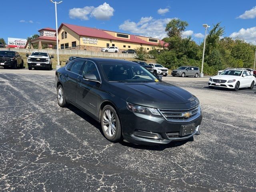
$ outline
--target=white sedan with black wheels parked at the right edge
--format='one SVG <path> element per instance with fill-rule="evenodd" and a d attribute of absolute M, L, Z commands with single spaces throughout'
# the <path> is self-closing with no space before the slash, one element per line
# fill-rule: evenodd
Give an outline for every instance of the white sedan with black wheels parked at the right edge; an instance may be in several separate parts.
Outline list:
<path fill-rule="evenodd" d="M 255 82 L 256 78 L 248 70 L 230 69 L 211 77 L 208 86 L 210 88 L 224 87 L 238 91 L 239 88 L 245 87 L 253 89 Z"/>

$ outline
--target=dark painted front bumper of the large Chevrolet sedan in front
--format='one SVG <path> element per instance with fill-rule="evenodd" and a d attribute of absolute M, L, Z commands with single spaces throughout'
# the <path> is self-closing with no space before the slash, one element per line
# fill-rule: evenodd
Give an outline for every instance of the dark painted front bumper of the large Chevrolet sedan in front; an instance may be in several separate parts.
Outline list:
<path fill-rule="evenodd" d="M 198 132 L 202 114 L 190 122 L 169 122 L 162 116 L 150 116 L 126 112 L 120 114 L 122 133 L 125 140 L 134 144 L 168 144 L 172 141 L 186 140 Z M 191 134 L 182 136 L 182 127 L 194 124 Z"/>

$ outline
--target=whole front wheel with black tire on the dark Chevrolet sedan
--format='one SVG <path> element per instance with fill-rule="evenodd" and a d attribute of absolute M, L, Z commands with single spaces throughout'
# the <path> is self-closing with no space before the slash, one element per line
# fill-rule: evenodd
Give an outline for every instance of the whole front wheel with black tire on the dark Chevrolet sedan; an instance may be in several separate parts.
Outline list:
<path fill-rule="evenodd" d="M 106 105 L 101 112 L 100 124 L 102 132 L 107 140 L 111 142 L 118 142 L 121 140 L 122 130 L 121 124 L 116 110 Z"/>

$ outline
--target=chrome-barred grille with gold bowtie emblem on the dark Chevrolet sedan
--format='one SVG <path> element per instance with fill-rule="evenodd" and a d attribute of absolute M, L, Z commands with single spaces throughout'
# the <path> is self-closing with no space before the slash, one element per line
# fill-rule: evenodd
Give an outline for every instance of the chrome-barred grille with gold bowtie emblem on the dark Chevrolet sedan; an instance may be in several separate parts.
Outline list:
<path fill-rule="evenodd" d="M 199 105 L 188 110 L 158 109 L 164 118 L 170 122 L 188 122 L 199 113 Z M 190 116 L 186 116 L 190 114 Z"/>

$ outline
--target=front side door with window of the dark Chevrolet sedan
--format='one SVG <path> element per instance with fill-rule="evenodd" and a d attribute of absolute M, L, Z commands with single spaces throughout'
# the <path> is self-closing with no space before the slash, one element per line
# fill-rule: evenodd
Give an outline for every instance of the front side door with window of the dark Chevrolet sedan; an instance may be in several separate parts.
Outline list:
<path fill-rule="evenodd" d="M 90 80 L 88 76 L 95 75 L 96 80 Z M 90 60 L 82 70 L 82 76 L 79 76 L 77 83 L 76 103 L 84 110 L 97 116 L 97 105 L 100 98 L 101 78 L 96 64 Z"/>

